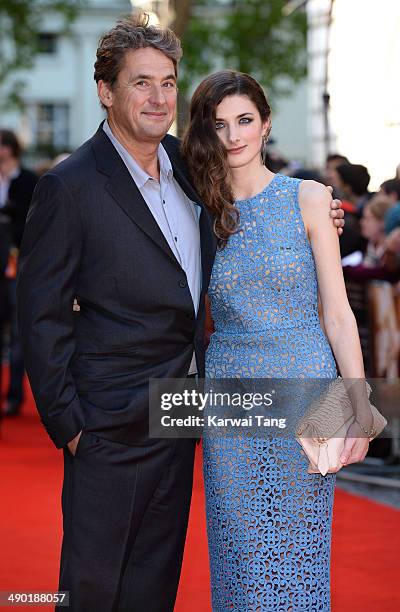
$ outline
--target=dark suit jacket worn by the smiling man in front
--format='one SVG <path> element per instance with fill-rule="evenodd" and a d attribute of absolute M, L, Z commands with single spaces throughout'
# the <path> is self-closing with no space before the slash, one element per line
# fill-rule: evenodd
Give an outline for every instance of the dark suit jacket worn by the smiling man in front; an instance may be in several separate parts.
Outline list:
<path fill-rule="evenodd" d="M 148 443 L 149 378 L 185 377 L 193 348 L 204 374 L 204 294 L 216 244 L 179 141 L 166 136 L 163 145 L 202 209 L 197 318 L 185 272 L 102 126 L 35 190 L 20 254 L 19 324 L 38 410 L 57 447 L 82 428 Z"/>

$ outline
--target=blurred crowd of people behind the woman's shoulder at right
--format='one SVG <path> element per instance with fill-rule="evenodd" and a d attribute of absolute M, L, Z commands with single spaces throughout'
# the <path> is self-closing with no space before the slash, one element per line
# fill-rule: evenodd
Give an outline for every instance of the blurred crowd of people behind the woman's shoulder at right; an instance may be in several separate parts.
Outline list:
<path fill-rule="evenodd" d="M 267 165 L 274 171 L 334 188 L 346 216 L 346 230 L 340 237 L 346 276 L 360 282 L 400 279 L 400 164 L 393 177 L 383 181 L 375 192 L 369 190 L 368 169 L 350 163 L 339 153 L 328 155 L 321 171 L 298 167 L 277 153 L 269 157 Z"/>

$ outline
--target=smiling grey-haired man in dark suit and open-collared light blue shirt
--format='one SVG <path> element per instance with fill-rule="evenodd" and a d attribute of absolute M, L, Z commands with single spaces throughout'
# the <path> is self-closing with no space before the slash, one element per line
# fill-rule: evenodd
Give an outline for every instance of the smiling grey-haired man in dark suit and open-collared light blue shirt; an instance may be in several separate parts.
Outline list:
<path fill-rule="evenodd" d="M 22 245 L 21 334 L 42 421 L 64 448 L 60 589 L 74 612 L 174 608 L 195 443 L 149 437 L 148 380 L 204 375 L 216 247 L 166 136 L 180 55 L 143 17 L 102 38 L 107 120 L 40 180 Z"/>

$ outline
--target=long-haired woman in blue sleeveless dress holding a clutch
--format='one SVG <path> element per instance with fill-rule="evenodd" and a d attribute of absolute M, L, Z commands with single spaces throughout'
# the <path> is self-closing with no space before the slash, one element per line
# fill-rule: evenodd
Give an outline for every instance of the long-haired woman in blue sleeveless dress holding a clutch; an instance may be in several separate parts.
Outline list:
<path fill-rule="evenodd" d="M 207 378 L 364 378 L 330 194 L 262 160 L 270 107 L 250 76 L 221 71 L 192 98 L 184 151 L 219 239 L 208 290 Z M 325 332 L 318 316 L 318 292 Z M 343 465 L 364 458 L 355 422 Z M 215 612 L 330 609 L 335 474 L 310 474 L 292 437 L 205 437 Z"/>

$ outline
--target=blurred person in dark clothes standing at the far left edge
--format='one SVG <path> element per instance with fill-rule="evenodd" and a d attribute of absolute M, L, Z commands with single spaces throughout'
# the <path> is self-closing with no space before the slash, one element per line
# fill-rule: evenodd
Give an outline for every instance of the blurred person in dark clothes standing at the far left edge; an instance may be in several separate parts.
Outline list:
<path fill-rule="evenodd" d="M 0 212 L 9 220 L 12 256 L 7 272 L 10 303 L 10 384 L 5 415 L 16 416 L 24 399 L 24 362 L 17 330 L 16 258 L 37 176 L 21 165 L 22 147 L 14 132 L 0 129 Z M 0 331 L 1 333 L 1 331 Z"/>

